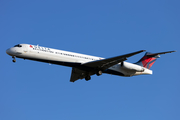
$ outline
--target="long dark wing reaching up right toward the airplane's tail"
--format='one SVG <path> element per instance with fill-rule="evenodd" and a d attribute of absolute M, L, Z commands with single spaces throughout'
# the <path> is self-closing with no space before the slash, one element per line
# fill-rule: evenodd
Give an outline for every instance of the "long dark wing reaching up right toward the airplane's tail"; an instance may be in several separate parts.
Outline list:
<path fill-rule="evenodd" d="M 127 60 L 128 57 L 131 57 L 133 55 L 136 55 L 136 54 L 144 52 L 144 51 L 145 50 L 140 50 L 137 52 L 133 52 L 133 53 L 117 56 L 117 57 L 112 57 L 112 58 L 107 58 L 107 59 L 103 59 L 103 60 L 97 60 L 97 61 L 93 61 L 93 62 L 84 63 L 82 65 L 86 66 L 86 67 L 90 67 L 90 68 L 106 70 L 107 68 L 109 68 L 113 65 L 116 65 L 117 63 Z"/>

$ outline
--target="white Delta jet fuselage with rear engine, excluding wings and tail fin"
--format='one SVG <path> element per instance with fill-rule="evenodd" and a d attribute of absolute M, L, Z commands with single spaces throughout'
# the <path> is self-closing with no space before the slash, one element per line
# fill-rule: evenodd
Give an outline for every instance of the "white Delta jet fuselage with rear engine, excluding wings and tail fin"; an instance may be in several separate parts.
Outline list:
<path fill-rule="evenodd" d="M 76 67 L 77 64 L 84 64 L 91 61 L 97 61 L 104 58 L 101 57 L 95 57 L 90 55 L 84 55 L 74 52 L 68 52 L 63 50 L 57 50 L 47 47 L 41 47 L 37 45 L 30 45 L 30 44 L 20 44 L 19 47 L 12 47 L 8 49 L 6 52 L 7 54 L 23 58 L 23 59 L 30 59 L 35 61 L 41 61 L 51 64 L 58 64 L 58 65 L 64 65 L 69 67 Z M 115 75 L 121 75 L 122 76 L 134 76 L 134 75 L 141 75 L 141 74 L 152 74 L 152 71 L 141 67 L 139 65 L 124 62 L 124 67 L 121 65 L 121 63 L 118 63 L 110 68 L 108 70 L 116 72 Z M 137 70 L 135 70 L 135 69 Z M 140 69 L 138 71 L 138 69 Z M 142 70 L 141 70 L 142 69 Z M 109 72 L 105 72 L 109 73 Z M 121 73 L 121 74 L 117 74 Z M 109 74 L 113 74 L 110 72 Z"/>

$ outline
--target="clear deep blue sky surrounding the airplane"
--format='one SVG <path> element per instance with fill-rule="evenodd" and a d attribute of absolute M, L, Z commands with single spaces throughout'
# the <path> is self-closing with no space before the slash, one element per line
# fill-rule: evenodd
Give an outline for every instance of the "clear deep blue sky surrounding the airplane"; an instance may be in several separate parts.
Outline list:
<path fill-rule="evenodd" d="M 179 0 L 1 0 L 0 120 L 180 120 Z M 104 58 L 145 49 L 153 75 L 69 82 L 71 68 L 16 59 L 28 43 Z M 129 58 L 138 61 L 144 53 Z"/>

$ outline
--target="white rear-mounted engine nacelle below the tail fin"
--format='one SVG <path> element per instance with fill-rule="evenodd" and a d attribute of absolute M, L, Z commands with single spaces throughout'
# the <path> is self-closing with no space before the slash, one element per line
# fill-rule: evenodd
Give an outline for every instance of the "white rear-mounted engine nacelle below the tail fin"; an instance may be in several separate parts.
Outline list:
<path fill-rule="evenodd" d="M 121 62 L 121 67 L 123 69 L 126 69 L 128 71 L 136 71 L 136 72 L 143 72 L 144 68 L 136 65 L 136 64 L 132 64 L 132 63 L 127 63 L 127 62 Z"/>

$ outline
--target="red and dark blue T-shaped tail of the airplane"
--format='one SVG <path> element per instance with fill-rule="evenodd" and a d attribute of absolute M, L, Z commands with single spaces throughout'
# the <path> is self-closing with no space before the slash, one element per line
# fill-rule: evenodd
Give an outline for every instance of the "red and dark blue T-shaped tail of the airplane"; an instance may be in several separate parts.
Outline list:
<path fill-rule="evenodd" d="M 150 69 L 155 63 L 156 59 L 160 57 L 161 54 L 172 53 L 176 51 L 160 52 L 160 53 L 150 53 L 146 52 L 145 55 L 135 64 L 143 66 Z"/>

